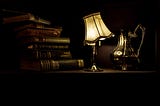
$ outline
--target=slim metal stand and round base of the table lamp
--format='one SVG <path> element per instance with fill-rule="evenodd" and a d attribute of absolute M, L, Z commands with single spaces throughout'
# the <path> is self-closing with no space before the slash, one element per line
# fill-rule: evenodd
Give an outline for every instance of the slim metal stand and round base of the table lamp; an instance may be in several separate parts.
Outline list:
<path fill-rule="evenodd" d="M 90 71 L 90 72 L 100 72 L 103 71 L 102 69 L 100 69 L 97 65 L 96 65 L 96 61 L 95 61 L 95 57 L 97 54 L 97 50 L 96 50 L 96 43 L 95 45 L 92 45 L 92 66 L 89 69 L 85 69 L 86 71 Z"/>

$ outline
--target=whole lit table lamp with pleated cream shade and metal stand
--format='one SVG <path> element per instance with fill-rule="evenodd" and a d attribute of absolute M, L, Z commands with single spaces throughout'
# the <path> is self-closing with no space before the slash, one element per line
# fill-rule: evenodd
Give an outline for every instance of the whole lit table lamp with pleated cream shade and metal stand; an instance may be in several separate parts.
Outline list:
<path fill-rule="evenodd" d="M 97 41 L 113 37 L 114 34 L 104 24 L 100 12 L 92 13 L 83 17 L 85 24 L 84 44 L 92 46 L 92 66 L 87 71 L 103 71 L 96 66 L 95 57 L 97 55 Z"/>

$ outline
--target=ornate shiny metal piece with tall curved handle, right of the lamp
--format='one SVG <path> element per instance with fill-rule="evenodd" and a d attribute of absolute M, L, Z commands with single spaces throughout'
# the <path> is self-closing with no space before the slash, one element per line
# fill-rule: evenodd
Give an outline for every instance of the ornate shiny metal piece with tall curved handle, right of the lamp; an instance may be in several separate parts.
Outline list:
<path fill-rule="evenodd" d="M 140 43 L 134 42 L 139 44 L 139 47 L 135 49 L 132 46 L 131 40 L 139 36 L 137 33 L 138 29 L 141 31 L 141 40 Z M 145 27 L 141 24 L 138 24 L 133 32 L 125 32 L 121 29 L 118 44 L 111 53 L 111 61 L 114 69 L 132 70 L 138 68 L 138 64 L 140 63 L 139 52 L 143 44 L 144 35 Z"/>

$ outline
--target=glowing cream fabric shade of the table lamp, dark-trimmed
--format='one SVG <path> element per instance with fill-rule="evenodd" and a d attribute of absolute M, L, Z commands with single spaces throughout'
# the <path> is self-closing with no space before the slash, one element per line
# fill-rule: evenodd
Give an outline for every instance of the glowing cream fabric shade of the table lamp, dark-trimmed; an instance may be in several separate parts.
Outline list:
<path fill-rule="evenodd" d="M 95 43 L 100 38 L 109 38 L 113 33 L 104 24 L 100 12 L 83 17 L 85 23 L 85 42 Z"/>

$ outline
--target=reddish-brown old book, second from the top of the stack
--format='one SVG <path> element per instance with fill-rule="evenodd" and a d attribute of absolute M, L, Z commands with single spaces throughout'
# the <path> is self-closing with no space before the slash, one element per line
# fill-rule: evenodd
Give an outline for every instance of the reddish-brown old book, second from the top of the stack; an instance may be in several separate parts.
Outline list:
<path fill-rule="evenodd" d="M 26 28 L 17 32 L 16 38 L 25 37 L 60 37 L 62 28 Z"/>

